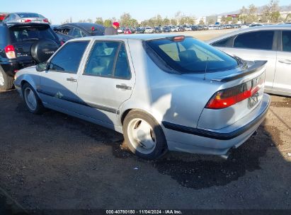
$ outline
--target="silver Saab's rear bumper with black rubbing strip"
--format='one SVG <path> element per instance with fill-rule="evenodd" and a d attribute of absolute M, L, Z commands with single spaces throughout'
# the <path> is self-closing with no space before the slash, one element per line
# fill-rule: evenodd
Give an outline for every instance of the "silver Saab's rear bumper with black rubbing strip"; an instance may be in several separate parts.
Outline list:
<path fill-rule="evenodd" d="M 269 106 L 270 96 L 264 94 L 256 110 L 234 124 L 217 130 L 196 129 L 162 122 L 169 150 L 224 155 L 229 149 L 243 144 L 256 132 L 265 119 Z"/>

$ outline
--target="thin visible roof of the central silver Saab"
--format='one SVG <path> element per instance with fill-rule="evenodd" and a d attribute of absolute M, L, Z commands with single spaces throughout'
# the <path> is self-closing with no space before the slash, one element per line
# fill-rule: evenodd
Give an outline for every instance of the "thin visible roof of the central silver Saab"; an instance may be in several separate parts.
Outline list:
<path fill-rule="evenodd" d="M 69 41 L 79 41 L 79 40 L 88 40 L 88 39 L 113 39 L 113 40 L 118 40 L 118 39 L 127 39 L 127 40 L 158 40 L 158 39 L 163 39 L 166 37 L 176 37 L 176 36 L 181 36 L 181 35 L 176 35 L 176 34 L 171 34 L 171 35 L 166 35 L 166 34 L 154 34 L 154 35 L 140 35 L 140 34 L 133 34 L 133 35 L 105 35 L 105 36 L 93 36 L 93 37 L 81 37 L 81 38 L 76 38 L 72 39 Z M 188 37 L 188 36 L 186 36 Z"/>

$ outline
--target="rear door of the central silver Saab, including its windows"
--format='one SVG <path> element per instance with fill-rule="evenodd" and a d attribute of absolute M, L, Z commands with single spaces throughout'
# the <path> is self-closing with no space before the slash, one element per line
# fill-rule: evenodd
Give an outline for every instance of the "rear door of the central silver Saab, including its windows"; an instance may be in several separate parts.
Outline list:
<path fill-rule="evenodd" d="M 83 114 L 105 127 L 116 124 L 118 108 L 130 98 L 135 85 L 128 56 L 126 42 L 96 40 L 79 76 L 78 95 L 88 106 Z"/>

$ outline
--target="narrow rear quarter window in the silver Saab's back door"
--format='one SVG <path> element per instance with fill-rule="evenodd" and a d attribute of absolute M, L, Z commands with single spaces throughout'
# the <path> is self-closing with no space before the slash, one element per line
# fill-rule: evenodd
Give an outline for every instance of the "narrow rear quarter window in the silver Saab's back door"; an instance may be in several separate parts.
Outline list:
<path fill-rule="evenodd" d="M 118 59 L 116 61 L 114 76 L 119 79 L 130 79 L 130 65 L 127 60 L 127 53 L 125 45 L 122 44 L 118 52 Z"/>

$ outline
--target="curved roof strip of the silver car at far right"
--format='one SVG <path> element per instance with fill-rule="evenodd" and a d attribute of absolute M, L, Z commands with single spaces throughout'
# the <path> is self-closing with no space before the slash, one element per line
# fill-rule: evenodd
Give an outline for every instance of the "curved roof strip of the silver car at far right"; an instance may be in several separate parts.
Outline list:
<path fill-rule="evenodd" d="M 262 26 L 257 26 L 253 28 L 244 28 L 244 29 L 239 29 L 239 30 L 234 30 L 232 33 L 227 33 L 225 35 L 221 35 L 219 37 L 215 37 L 211 40 L 207 40 L 207 43 L 212 43 L 216 42 L 218 40 L 222 40 L 227 37 L 232 37 L 234 35 L 238 35 L 241 33 L 248 33 L 248 32 L 253 32 L 257 30 L 291 30 L 291 24 L 281 24 L 281 25 L 262 25 Z"/>

